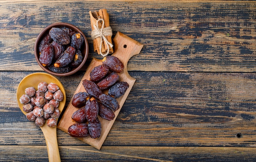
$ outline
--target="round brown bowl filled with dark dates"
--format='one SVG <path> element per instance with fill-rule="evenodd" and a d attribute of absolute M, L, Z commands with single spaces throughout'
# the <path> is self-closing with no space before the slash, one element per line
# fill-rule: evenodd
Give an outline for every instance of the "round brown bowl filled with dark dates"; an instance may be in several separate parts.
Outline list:
<path fill-rule="evenodd" d="M 83 32 L 72 24 L 54 23 L 36 39 L 36 61 L 47 73 L 68 76 L 83 67 L 88 57 L 88 42 Z"/>

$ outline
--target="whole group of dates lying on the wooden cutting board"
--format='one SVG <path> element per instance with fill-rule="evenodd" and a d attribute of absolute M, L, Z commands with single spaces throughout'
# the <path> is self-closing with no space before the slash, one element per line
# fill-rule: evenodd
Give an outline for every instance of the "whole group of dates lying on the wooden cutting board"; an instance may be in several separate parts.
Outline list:
<path fill-rule="evenodd" d="M 90 72 L 90 80 L 83 80 L 84 92 L 74 94 L 72 105 L 79 108 L 72 114 L 76 122 L 68 128 L 72 137 L 82 138 L 90 135 L 99 138 L 101 123 L 99 117 L 113 120 L 115 111 L 119 109 L 116 98 L 124 95 L 129 87 L 127 82 L 120 82 L 119 74 L 124 70 L 124 64 L 115 56 L 106 56 L 101 65 Z M 108 90 L 108 95 L 102 91 Z"/>

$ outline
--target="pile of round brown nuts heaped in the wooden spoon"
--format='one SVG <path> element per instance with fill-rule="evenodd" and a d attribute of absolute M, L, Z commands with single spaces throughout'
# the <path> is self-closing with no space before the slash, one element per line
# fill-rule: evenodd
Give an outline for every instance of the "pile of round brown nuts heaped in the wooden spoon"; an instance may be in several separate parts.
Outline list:
<path fill-rule="evenodd" d="M 47 120 L 47 126 L 54 127 L 61 115 L 58 106 L 63 100 L 63 93 L 55 83 L 40 82 L 37 88 L 27 87 L 20 97 L 23 111 L 27 112 L 27 119 L 37 126 L 43 126 Z"/>

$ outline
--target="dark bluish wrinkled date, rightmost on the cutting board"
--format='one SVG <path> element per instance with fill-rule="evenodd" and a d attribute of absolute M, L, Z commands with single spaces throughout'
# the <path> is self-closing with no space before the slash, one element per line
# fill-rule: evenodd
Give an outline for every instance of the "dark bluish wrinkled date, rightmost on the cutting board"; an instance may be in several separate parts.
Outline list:
<path fill-rule="evenodd" d="M 129 84 L 127 82 L 117 82 L 110 89 L 108 89 L 108 95 L 113 96 L 114 98 L 119 98 L 126 90 L 129 88 Z"/>

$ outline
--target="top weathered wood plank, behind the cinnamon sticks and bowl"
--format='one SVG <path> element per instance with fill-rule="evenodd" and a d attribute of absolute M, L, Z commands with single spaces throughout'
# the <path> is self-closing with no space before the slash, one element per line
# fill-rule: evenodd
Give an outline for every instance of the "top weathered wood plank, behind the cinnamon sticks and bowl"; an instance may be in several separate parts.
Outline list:
<path fill-rule="evenodd" d="M 90 10 L 108 9 L 113 33 L 144 44 L 129 71 L 256 71 L 255 1 L 0 1 L 0 70 L 41 71 L 36 36 L 68 22 L 88 37 Z M 132 13 L 132 14 L 131 14 Z"/>

